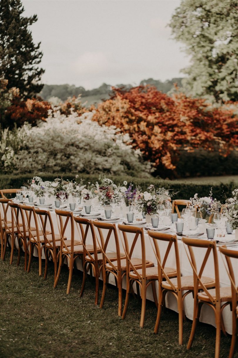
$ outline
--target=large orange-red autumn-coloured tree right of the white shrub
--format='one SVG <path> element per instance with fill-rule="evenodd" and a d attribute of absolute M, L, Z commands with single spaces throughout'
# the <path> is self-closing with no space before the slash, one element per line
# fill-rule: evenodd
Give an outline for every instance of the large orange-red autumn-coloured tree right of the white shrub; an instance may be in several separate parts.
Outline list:
<path fill-rule="evenodd" d="M 216 149 L 227 155 L 237 147 L 238 118 L 229 108 L 210 108 L 182 93 L 169 97 L 151 86 L 113 91 L 98 104 L 93 120 L 128 133 L 133 147 L 157 169 L 174 170 L 181 150 Z"/>

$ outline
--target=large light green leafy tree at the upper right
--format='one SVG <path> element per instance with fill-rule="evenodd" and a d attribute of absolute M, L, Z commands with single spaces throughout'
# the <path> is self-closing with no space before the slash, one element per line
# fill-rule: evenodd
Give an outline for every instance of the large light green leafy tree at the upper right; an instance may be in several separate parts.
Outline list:
<path fill-rule="evenodd" d="M 183 70 L 186 92 L 216 102 L 238 101 L 237 0 L 182 0 L 169 25 L 191 58 Z"/>

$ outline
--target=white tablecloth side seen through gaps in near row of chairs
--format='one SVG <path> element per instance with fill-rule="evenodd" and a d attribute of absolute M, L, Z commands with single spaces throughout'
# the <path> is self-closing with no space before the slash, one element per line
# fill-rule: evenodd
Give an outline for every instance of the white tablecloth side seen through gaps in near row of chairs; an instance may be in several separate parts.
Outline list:
<path fill-rule="evenodd" d="M 59 226 L 58 226 L 56 214 L 54 211 L 51 212 L 51 217 L 52 217 L 55 233 L 58 233 Z M 32 224 L 34 225 L 33 222 L 32 222 Z M 47 227 L 47 229 L 50 229 L 50 227 Z M 67 238 L 70 238 L 70 236 L 71 236 L 70 225 L 68 225 L 66 228 L 65 236 Z M 133 240 L 133 234 L 127 234 L 127 236 L 128 236 L 128 240 L 131 240 L 131 241 Z M 234 235 L 229 235 L 228 237 L 229 237 L 229 239 L 231 239 L 233 236 Z M 75 239 L 76 240 L 80 239 L 79 231 L 76 227 L 76 223 L 75 223 Z M 90 232 L 88 232 L 87 243 L 92 243 L 92 240 L 90 240 L 90 239 L 91 239 Z M 178 239 L 181 239 L 181 237 L 178 236 Z M 147 258 L 147 260 L 152 261 L 155 264 L 155 266 L 157 266 L 157 260 L 156 260 L 155 254 L 153 252 L 150 238 L 146 231 L 145 231 L 145 240 L 147 242 L 146 258 Z M 119 236 L 119 241 L 120 241 L 121 252 L 123 252 L 123 246 L 122 246 L 122 243 L 120 240 L 120 236 Z M 193 275 L 192 267 L 188 261 L 187 254 L 184 249 L 183 242 L 181 240 L 178 240 L 178 248 L 179 248 L 179 258 L 180 258 L 180 266 L 181 266 L 182 276 Z M 163 255 L 167 249 L 167 244 L 165 242 L 160 242 L 159 249 L 161 252 L 161 257 L 163 257 Z M 235 246 L 235 247 L 232 247 L 232 249 L 238 250 L 238 247 Z M 113 241 L 112 240 L 109 241 L 108 251 L 115 251 L 115 250 L 116 250 L 116 248 L 115 248 L 115 245 L 113 245 Z M 198 268 L 199 268 L 199 265 L 201 265 L 201 263 L 203 261 L 205 252 L 206 252 L 206 249 L 204 249 L 204 248 L 194 248 L 194 254 L 196 256 Z M 37 256 L 36 250 L 34 252 L 34 255 Z M 44 252 L 43 252 L 43 255 L 44 255 Z M 141 258 L 140 241 L 137 241 L 137 243 L 136 243 L 135 249 L 133 251 L 133 257 Z M 221 253 L 219 252 L 219 250 L 218 250 L 218 264 L 219 264 L 219 280 L 220 280 L 221 287 L 230 286 L 231 283 L 230 283 L 227 271 L 224 267 L 224 263 L 223 263 Z M 232 264 L 233 264 L 234 274 L 236 276 L 236 283 L 237 283 L 238 282 L 238 262 L 237 262 L 237 260 L 233 259 Z M 173 249 L 171 249 L 171 251 L 169 253 L 166 266 L 176 267 L 175 254 L 174 254 Z M 79 259 L 76 260 L 76 267 L 77 267 L 77 269 L 82 270 L 81 260 L 79 260 Z M 110 275 L 110 276 L 113 276 L 113 275 Z M 215 277 L 212 253 L 210 254 L 207 264 L 204 268 L 203 276 L 208 276 L 208 277 L 212 277 L 212 278 Z M 114 277 L 109 277 L 109 283 L 115 285 Z M 126 289 L 126 277 L 124 277 L 124 279 L 123 279 L 123 288 Z M 153 301 L 151 285 L 147 290 L 147 299 Z M 176 298 L 169 292 L 166 295 L 166 307 L 178 312 Z M 130 309 L 130 305 L 129 305 L 129 309 Z M 191 319 L 191 320 L 193 319 L 193 296 L 192 296 L 192 293 L 187 295 L 187 297 L 185 297 L 185 299 L 184 299 L 184 313 L 188 319 Z M 223 310 L 223 320 L 224 320 L 226 332 L 229 334 L 232 334 L 232 315 L 231 315 L 231 310 L 230 310 L 229 305 L 226 308 L 224 308 L 224 310 Z M 213 326 L 216 326 L 214 311 L 208 305 L 203 305 L 202 310 L 201 310 L 201 315 L 200 315 L 200 321 L 203 323 L 208 323 Z"/>

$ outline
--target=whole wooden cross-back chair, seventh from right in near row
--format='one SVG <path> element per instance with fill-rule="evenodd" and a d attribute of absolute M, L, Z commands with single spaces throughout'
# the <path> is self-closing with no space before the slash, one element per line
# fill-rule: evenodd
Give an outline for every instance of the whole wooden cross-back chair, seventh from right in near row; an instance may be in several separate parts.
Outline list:
<path fill-rule="evenodd" d="M 74 269 L 74 262 L 77 257 L 82 256 L 83 247 L 82 247 L 82 242 L 79 240 L 75 240 L 75 237 L 74 237 L 74 216 L 73 216 L 73 213 L 69 212 L 69 211 L 57 210 L 57 209 L 55 209 L 55 213 L 56 213 L 57 223 L 58 223 L 58 219 L 60 221 L 60 226 L 59 226 L 59 223 L 58 223 L 58 226 L 59 226 L 61 241 L 60 241 L 59 268 L 58 268 L 57 276 L 55 279 L 54 288 L 56 288 L 58 285 L 61 267 L 64 265 L 64 260 L 66 258 L 67 264 L 69 266 L 69 279 L 68 279 L 66 294 L 69 294 L 70 287 L 71 287 L 71 281 L 72 281 L 72 275 L 73 275 L 73 269 Z M 64 223 L 63 223 L 62 218 L 65 218 Z M 66 230 L 66 227 L 68 224 L 70 225 L 70 229 L 71 229 L 71 238 L 66 239 L 65 230 Z"/>

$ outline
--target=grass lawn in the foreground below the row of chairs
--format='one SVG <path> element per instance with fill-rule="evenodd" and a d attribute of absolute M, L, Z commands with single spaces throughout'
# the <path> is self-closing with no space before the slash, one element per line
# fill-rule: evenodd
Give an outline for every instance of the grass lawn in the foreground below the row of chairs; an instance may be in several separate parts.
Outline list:
<path fill-rule="evenodd" d="M 153 333 L 157 310 L 148 301 L 145 328 L 139 327 L 140 304 L 130 300 L 125 320 L 117 316 L 117 290 L 109 287 L 103 309 L 94 305 L 94 286 L 86 283 L 79 298 L 81 272 L 73 275 L 66 295 L 67 268 L 53 289 L 53 268 L 47 280 L 38 276 L 34 258 L 29 274 L 22 265 L 0 261 L 0 357 L 214 357 L 215 328 L 199 324 L 187 351 L 191 321 L 184 322 L 184 344 L 178 345 L 178 315 L 162 313 L 159 334 Z M 101 288 L 101 287 L 100 287 Z M 125 298 L 125 292 L 124 292 Z M 228 357 L 231 337 L 221 337 L 220 357 Z M 238 357 L 238 347 L 234 357 Z"/>

